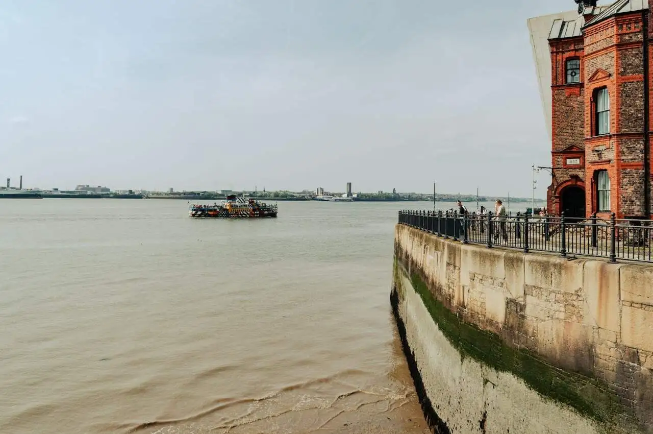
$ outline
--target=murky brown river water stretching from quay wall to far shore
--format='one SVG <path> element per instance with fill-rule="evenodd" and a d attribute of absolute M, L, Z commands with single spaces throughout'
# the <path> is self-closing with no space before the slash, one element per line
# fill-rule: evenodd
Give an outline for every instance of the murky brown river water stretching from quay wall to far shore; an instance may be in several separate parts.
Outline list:
<path fill-rule="evenodd" d="M 0 200 L 0 432 L 428 433 L 389 293 L 430 207 Z"/>

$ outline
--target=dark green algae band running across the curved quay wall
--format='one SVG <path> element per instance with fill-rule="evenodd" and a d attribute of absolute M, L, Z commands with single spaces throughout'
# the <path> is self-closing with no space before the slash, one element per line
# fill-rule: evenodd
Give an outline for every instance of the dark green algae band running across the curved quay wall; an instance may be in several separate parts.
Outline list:
<path fill-rule="evenodd" d="M 465 322 L 434 297 L 418 273 L 408 273 L 395 257 L 394 282 L 401 292 L 404 290 L 402 276 L 409 278 L 434 322 L 462 358 L 471 358 L 522 378 L 543 397 L 568 405 L 597 422 L 609 424 L 620 419 L 623 424 L 625 418 L 629 424 L 635 424 L 633 415 L 620 405 L 616 393 L 600 380 L 560 369 L 530 350 L 505 344 L 496 333 Z M 402 298 L 402 293 L 399 297 Z"/>

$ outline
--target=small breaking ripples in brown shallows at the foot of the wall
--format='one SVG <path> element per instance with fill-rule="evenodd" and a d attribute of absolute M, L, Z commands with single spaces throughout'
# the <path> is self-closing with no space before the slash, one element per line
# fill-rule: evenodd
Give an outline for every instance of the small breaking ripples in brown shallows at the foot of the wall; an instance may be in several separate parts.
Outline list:
<path fill-rule="evenodd" d="M 419 412 L 412 390 L 400 384 L 399 390 L 357 388 L 347 381 L 357 374 L 293 384 L 259 398 L 217 399 L 195 414 L 122 428 L 129 434 L 428 433 L 423 420 L 411 419 L 415 407 Z"/>

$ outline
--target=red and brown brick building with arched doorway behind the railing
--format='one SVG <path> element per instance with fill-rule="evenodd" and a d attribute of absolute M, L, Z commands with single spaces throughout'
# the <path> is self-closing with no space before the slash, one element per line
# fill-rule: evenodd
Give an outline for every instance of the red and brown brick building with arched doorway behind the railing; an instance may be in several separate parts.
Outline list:
<path fill-rule="evenodd" d="M 648 0 L 575 0 L 554 19 L 551 65 L 554 214 L 650 218 L 653 23 Z"/>

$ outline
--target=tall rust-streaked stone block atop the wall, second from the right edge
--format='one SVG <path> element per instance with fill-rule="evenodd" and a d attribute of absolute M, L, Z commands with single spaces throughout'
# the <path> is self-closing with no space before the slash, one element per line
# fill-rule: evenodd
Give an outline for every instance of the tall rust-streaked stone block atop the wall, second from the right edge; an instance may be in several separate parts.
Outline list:
<path fill-rule="evenodd" d="M 584 323 L 619 331 L 619 271 L 622 265 L 587 261 L 584 266 Z"/>

